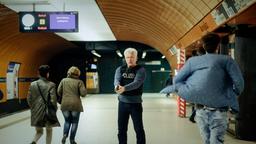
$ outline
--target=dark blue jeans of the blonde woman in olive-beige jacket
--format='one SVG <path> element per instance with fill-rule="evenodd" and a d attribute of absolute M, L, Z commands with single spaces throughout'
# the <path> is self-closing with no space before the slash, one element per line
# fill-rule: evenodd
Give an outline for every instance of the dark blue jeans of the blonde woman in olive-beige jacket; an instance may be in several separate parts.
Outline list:
<path fill-rule="evenodd" d="M 63 135 L 67 137 L 69 130 L 71 128 L 70 140 L 75 140 L 79 117 L 80 117 L 80 112 L 62 111 L 62 113 L 63 113 L 64 119 L 65 119 Z"/>

